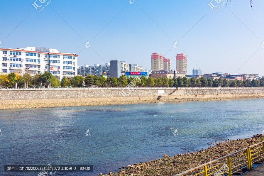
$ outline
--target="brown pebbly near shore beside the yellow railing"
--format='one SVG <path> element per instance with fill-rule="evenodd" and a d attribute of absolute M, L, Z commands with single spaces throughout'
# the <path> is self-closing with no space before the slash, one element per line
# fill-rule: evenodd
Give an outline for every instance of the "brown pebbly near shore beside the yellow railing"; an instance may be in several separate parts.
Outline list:
<path fill-rule="evenodd" d="M 148 162 L 134 163 L 126 167 L 121 166 L 119 172 L 98 174 L 102 176 L 173 176 L 192 169 L 209 161 L 218 159 L 230 153 L 236 152 L 250 145 L 263 141 L 263 135 L 257 134 L 252 138 L 226 140 L 220 143 L 209 144 L 210 147 L 197 152 L 167 156 Z M 214 145 L 214 146 L 213 146 Z"/>

